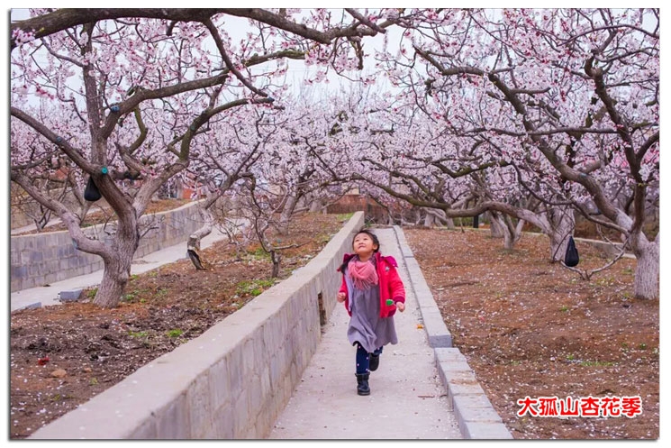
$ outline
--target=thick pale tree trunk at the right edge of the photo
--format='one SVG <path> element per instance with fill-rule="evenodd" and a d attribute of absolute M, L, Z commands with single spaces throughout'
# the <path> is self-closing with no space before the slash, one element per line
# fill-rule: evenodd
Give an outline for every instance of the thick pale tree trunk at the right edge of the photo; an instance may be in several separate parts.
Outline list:
<path fill-rule="evenodd" d="M 642 232 L 631 235 L 636 255 L 634 297 L 654 299 L 659 297 L 659 240 L 649 242 Z"/>

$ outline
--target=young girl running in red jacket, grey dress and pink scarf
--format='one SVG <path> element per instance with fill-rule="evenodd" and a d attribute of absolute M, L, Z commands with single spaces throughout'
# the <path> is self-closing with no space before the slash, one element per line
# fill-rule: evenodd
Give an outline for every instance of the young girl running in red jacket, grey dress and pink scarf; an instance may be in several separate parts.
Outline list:
<path fill-rule="evenodd" d="M 357 393 L 369 395 L 369 372 L 377 370 L 383 346 L 398 343 L 394 314 L 405 309 L 405 288 L 394 257 L 380 254 L 375 233 L 359 231 L 352 247 L 355 253 L 345 254 L 339 269 L 337 299 L 345 302 L 350 315 L 347 337 L 357 346 Z"/>

